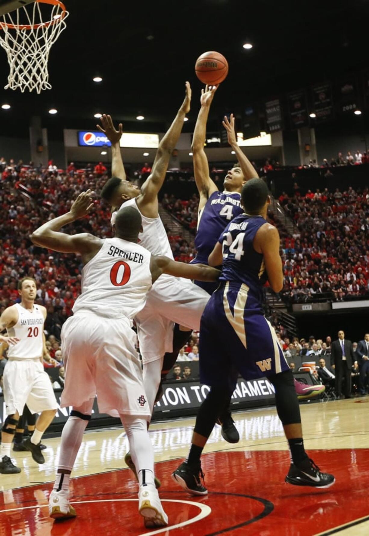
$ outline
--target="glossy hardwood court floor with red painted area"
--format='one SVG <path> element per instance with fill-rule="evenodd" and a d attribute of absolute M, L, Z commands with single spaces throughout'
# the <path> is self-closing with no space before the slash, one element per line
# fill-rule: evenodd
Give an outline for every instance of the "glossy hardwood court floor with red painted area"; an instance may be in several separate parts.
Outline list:
<path fill-rule="evenodd" d="M 284 483 L 289 454 L 275 408 L 235 413 L 237 445 L 226 443 L 216 427 L 203 458 L 209 495 L 200 498 L 171 480 L 187 455 L 194 419 L 155 423 L 151 439 L 169 515 L 169 527 L 160 533 L 313 536 L 333 534 L 343 525 L 334 533 L 368 534 L 369 397 L 304 405 L 301 413 L 306 449 L 336 476 L 328 489 Z M 123 461 L 127 440 L 122 429 L 85 434 L 71 486 L 71 500 L 80 503 L 75 504 L 78 517 L 62 524 L 53 523 L 45 507 L 60 438 L 45 443 L 44 465 L 35 464 L 28 452 L 14 452 L 23 471 L 0 475 L 0 536 L 158 533 L 145 531 L 137 514 L 137 486 Z"/>

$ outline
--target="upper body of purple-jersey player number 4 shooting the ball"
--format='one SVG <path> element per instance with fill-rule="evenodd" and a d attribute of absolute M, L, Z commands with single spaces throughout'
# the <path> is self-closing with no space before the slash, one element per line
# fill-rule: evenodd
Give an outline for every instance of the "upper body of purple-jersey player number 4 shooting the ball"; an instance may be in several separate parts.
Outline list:
<path fill-rule="evenodd" d="M 208 257 L 217 243 L 220 233 L 233 218 L 242 213 L 240 204 L 242 185 L 250 178 L 258 176 L 237 143 L 234 116 L 231 114 L 230 121 L 225 117 L 223 125 L 227 130 L 228 143 L 235 152 L 238 163 L 228 170 L 224 179 L 223 192 L 218 190 L 215 182 L 210 178 L 209 162 L 204 151 L 204 143 L 210 105 L 217 88 L 218 86 L 206 86 L 205 90 L 201 92 L 201 108 L 197 116 L 192 143 L 195 181 L 200 195 L 195 238 L 197 254 L 194 263 L 206 264 L 208 262 Z M 216 288 L 215 285 L 204 285 L 200 281 L 196 284 L 204 288 L 209 294 Z"/>

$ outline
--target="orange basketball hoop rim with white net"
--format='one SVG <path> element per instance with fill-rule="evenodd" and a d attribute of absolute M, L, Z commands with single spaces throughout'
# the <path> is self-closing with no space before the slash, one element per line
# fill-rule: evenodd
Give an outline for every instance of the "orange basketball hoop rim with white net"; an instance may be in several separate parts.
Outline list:
<path fill-rule="evenodd" d="M 48 16 L 43 4 L 51 6 Z M 41 93 L 51 88 L 47 69 L 50 48 L 67 26 L 68 15 L 60 0 L 35 0 L 32 6 L 24 5 L 0 17 L 0 45 L 10 66 L 5 90 L 19 87 L 22 93 L 26 88 Z"/>

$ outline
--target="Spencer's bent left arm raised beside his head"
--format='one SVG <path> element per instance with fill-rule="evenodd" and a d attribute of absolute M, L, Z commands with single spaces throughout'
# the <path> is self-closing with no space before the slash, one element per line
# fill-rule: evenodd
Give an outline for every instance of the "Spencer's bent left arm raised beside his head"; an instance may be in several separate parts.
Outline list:
<path fill-rule="evenodd" d="M 93 206 L 91 195 L 91 190 L 80 193 L 69 212 L 47 221 L 46 224 L 41 225 L 31 234 L 32 242 L 43 248 L 62 253 L 79 253 L 83 257 L 83 262 L 88 262 L 97 254 L 104 241 L 89 233 L 68 235 L 60 233 L 59 230 L 64 225 L 68 225 L 72 221 L 83 218 L 88 214 L 88 211 Z"/>

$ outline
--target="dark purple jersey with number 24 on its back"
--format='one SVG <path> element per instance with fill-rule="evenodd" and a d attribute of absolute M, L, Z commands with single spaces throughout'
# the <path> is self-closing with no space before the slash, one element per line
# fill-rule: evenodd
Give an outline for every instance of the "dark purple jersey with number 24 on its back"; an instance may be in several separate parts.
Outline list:
<path fill-rule="evenodd" d="M 243 213 L 227 225 L 219 238 L 223 248 L 219 280 L 248 286 L 247 309 L 262 308 L 262 287 L 268 276 L 263 255 L 255 251 L 253 242 L 257 231 L 266 223 L 262 216 Z"/>

